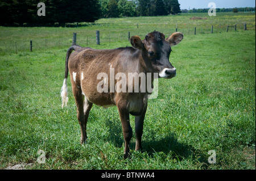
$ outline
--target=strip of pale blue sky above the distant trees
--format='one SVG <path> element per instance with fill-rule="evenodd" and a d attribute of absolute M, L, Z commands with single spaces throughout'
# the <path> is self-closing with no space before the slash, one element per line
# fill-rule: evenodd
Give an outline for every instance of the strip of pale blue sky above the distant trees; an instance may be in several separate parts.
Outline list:
<path fill-rule="evenodd" d="M 233 8 L 233 7 L 255 7 L 255 0 L 178 0 L 180 9 L 203 9 L 210 8 L 208 4 L 214 2 L 216 8 Z"/>

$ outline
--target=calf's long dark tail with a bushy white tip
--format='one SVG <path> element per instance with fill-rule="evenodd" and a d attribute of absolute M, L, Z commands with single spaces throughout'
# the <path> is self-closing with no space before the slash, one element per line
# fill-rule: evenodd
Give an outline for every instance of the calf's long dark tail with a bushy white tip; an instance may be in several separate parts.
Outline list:
<path fill-rule="evenodd" d="M 60 95 L 61 95 L 61 100 L 62 100 L 62 108 L 65 106 L 67 106 L 68 104 L 68 85 L 67 85 L 67 78 L 68 78 L 68 58 L 71 55 L 73 50 L 77 50 L 79 49 L 80 46 L 79 45 L 72 45 L 71 47 L 69 47 L 67 54 L 66 54 L 66 62 L 65 62 L 65 77 L 64 77 L 64 81 L 63 81 L 63 86 L 61 87 L 61 91 L 60 91 Z"/>

